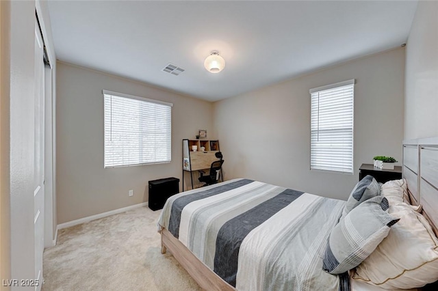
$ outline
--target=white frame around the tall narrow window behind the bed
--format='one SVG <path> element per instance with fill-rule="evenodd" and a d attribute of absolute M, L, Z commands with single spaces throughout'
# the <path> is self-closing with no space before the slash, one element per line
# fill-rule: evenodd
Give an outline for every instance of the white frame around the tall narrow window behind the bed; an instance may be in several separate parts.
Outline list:
<path fill-rule="evenodd" d="M 309 155 L 309 169 L 311 171 L 321 171 L 321 172 L 329 172 L 334 174 L 342 174 L 342 175 L 354 175 L 355 174 L 355 79 L 350 79 L 338 83 L 333 83 L 329 85 L 324 85 L 320 87 L 315 87 L 309 90 L 310 93 L 310 102 L 312 103 L 312 94 L 315 92 L 322 92 L 324 90 L 328 89 L 335 89 L 337 87 L 343 87 L 346 85 L 352 85 L 352 100 L 351 100 L 351 115 L 352 115 L 352 122 L 351 122 L 351 171 L 342 171 L 342 170 L 336 170 L 336 169 L 320 169 L 318 167 L 312 167 L 312 104 L 310 105 L 311 114 L 310 114 L 310 155 Z M 319 129 L 318 129 L 319 130 Z"/>

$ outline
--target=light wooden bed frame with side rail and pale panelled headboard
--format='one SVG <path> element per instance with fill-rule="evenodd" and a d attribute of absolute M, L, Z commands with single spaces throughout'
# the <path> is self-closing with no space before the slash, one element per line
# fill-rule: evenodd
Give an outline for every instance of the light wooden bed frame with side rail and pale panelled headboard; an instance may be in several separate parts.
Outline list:
<path fill-rule="evenodd" d="M 412 205 L 422 205 L 422 214 L 438 236 L 438 137 L 403 142 L 403 178 L 408 182 Z M 163 229 L 162 253 L 170 251 L 204 290 L 236 290 L 211 271 L 170 232 Z"/>

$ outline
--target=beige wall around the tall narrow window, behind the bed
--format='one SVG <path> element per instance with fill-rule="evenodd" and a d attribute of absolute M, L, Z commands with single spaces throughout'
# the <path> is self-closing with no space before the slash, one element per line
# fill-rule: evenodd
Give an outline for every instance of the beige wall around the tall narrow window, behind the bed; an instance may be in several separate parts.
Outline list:
<path fill-rule="evenodd" d="M 353 78 L 355 173 L 310 171 L 309 89 Z M 397 48 L 216 102 L 224 176 L 346 199 L 362 163 L 375 155 L 402 160 L 403 92 L 404 48 Z"/>

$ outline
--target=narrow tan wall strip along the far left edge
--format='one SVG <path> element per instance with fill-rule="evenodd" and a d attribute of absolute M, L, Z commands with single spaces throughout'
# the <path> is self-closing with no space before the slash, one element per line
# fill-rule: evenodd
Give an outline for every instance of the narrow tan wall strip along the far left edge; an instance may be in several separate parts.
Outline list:
<path fill-rule="evenodd" d="M 0 280 L 10 279 L 10 5 L 0 1 Z M 1 284 L 1 290 L 9 290 Z"/>

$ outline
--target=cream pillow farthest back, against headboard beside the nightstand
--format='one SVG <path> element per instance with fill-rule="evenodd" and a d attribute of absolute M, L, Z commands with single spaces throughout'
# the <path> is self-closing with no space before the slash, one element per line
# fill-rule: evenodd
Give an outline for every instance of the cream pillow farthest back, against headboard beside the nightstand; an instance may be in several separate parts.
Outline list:
<path fill-rule="evenodd" d="M 407 180 L 391 180 L 386 182 L 385 184 L 382 184 L 381 195 L 388 199 L 389 205 L 398 204 L 400 202 L 409 204 Z M 410 207 L 416 212 L 422 212 L 421 205 L 411 205 Z"/>

